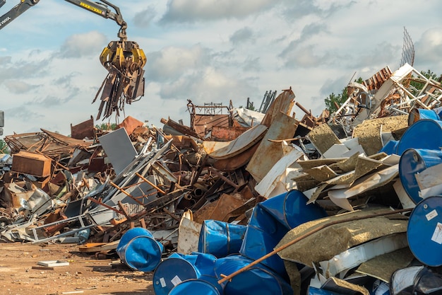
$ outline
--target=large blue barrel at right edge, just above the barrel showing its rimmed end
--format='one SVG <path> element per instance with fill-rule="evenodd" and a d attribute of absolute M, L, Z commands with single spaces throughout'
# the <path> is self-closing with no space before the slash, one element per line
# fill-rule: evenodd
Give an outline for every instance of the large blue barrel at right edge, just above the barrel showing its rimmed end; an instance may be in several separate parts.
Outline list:
<path fill-rule="evenodd" d="M 407 149 L 436 149 L 442 146 L 442 121 L 424 119 L 408 127 L 398 144 L 398 155 Z"/>

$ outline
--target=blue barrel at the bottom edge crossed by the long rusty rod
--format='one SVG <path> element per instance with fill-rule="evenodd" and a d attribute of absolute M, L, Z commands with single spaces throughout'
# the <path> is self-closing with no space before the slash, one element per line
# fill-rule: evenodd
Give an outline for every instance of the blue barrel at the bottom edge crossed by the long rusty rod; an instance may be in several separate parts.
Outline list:
<path fill-rule="evenodd" d="M 253 260 L 242 255 L 229 255 L 215 262 L 215 272 L 220 279 L 249 265 Z M 278 274 L 261 263 L 232 277 L 224 283 L 225 295 L 292 295 L 292 287 Z"/>

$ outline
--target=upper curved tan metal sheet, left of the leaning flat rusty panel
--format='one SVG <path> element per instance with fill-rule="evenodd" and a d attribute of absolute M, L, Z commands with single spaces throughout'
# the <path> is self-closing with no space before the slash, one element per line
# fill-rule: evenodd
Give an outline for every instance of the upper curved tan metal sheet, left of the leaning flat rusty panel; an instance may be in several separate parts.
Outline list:
<path fill-rule="evenodd" d="M 267 131 L 267 127 L 256 125 L 232 141 L 203 141 L 203 148 L 210 158 L 217 160 L 232 158 L 260 141 L 265 131 Z M 208 149 L 206 149 L 206 146 L 208 146 Z M 222 147 L 217 149 L 218 146 Z"/>

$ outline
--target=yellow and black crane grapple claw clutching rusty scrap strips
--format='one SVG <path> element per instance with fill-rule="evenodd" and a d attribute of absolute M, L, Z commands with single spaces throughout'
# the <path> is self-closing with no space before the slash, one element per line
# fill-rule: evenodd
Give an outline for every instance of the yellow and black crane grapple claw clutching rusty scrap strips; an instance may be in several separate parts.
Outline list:
<path fill-rule="evenodd" d="M 97 120 L 119 115 L 124 104 L 131 104 L 144 96 L 144 70 L 146 57 L 136 42 L 121 39 L 111 41 L 100 54 L 100 62 L 109 71 L 95 99 L 100 96 Z M 104 112 L 103 112 L 104 111 Z"/>

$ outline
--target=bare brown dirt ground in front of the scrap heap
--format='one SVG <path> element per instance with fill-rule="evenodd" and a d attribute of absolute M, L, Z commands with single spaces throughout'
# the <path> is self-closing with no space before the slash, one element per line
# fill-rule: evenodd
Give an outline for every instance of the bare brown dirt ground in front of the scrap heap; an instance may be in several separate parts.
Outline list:
<path fill-rule="evenodd" d="M 47 260 L 69 265 L 35 269 Z M 135 272 L 115 260 L 97 260 L 93 253 L 79 252 L 76 244 L 0 243 L 0 294 L 155 294 L 152 272 Z"/>

